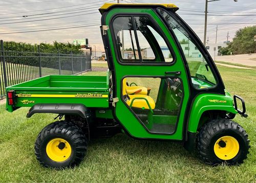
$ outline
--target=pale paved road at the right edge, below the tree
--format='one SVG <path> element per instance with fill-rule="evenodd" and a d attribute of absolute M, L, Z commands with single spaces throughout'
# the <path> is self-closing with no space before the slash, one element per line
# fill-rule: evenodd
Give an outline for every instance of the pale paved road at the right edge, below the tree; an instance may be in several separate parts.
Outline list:
<path fill-rule="evenodd" d="M 254 60 L 252 60 L 254 58 Z M 217 61 L 240 63 L 243 65 L 256 66 L 256 54 L 225 55 L 215 58 Z"/>

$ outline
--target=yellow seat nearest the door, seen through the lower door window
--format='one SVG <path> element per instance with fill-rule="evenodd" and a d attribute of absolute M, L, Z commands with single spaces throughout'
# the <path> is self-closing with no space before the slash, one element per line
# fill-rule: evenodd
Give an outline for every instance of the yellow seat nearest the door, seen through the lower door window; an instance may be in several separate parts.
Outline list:
<path fill-rule="evenodd" d="M 126 96 L 126 103 L 130 106 L 132 101 L 133 101 L 133 105 L 132 107 L 136 107 L 136 108 L 141 108 L 141 109 L 155 109 L 155 101 L 150 97 L 150 96 L 147 96 L 147 95 L 129 95 L 127 94 L 127 90 L 126 90 L 126 79 L 124 78 L 123 79 L 123 83 L 122 83 L 122 94 L 123 96 Z M 138 99 L 136 99 L 138 98 Z M 150 104 L 150 107 L 148 106 L 147 104 L 147 101 L 148 101 L 148 104 Z"/>

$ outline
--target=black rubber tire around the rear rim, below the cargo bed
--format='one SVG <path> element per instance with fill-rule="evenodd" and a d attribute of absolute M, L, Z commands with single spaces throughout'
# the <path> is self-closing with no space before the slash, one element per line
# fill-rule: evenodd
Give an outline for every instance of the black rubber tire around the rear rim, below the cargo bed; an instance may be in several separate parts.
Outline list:
<path fill-rule="evenodd" d="M 67 141 L 70 145 L 69 147 L 71 147 L 71 153 L 65 161 L 54 161 L 47 154 L 47 144 L 57 138 L 65 140 L 65 143 Z M 80 127 L 72 122 L 56 121 L 47 125 L 38 134 L 35 142 L 35 155 L 39 163 L 44 167 L 57 169 L 74 167 L 86 155 L 87 144 L 87 138 Z"/>

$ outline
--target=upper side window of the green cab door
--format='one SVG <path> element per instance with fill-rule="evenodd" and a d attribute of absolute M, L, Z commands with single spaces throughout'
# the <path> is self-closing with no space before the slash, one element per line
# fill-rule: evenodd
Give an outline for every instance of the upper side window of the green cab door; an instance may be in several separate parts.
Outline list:
<path fill-rule="evenodd" d="M 167 43 L 149 17 L 117 17 L 113 27 L 121 62 L 173 62 Z"/>

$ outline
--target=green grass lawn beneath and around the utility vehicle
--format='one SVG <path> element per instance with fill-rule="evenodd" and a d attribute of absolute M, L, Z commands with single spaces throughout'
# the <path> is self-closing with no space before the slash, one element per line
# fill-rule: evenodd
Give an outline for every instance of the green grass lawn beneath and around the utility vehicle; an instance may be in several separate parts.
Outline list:
<path fill-rule="evenodd" d="M 188 153 L 181 143 L 139 141 L 118 134 L 90 141 L 86 158 L 74 169 L 47 169 L 35 158 L 34 142 L 56 115 L 37 114 L 27 119 L 29 108 L 9 113 L 0 105 L 0 182 L 255 182 L 256 72 L 217 66 L 226 89 L 246 101 L 248 118 L 234 119 L 251 140 L 244 164 L 211 167 L 200 161 L 196 150 Z M 84 75 L 104 76 L 105 72 Z"/>

